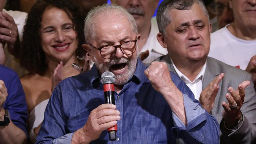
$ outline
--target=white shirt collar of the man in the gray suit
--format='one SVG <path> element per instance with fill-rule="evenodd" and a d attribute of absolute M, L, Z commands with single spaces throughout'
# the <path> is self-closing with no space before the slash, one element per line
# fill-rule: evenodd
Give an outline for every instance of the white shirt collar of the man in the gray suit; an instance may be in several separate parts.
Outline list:
<path fill-rule="evenodd" d="M 170 58 L 171 59 L 171 58 Z M 173 68 L 176 71 L 176 73 L 178 74 L 178 76 L 180 78 L 182 78 L 182 80 L 184 81 L 189 81 L 189 83 L 194 83 L 195 81 L 197 81 L 198 79 L 203 80 L 204 79 L 204 73 L 206 70 L 206 62 L 204 63 L 204 66 L 202 67 L 202 69 L 200 70 L 200 72 L 198 73 L 198 75 L 196 76 L 196 78 L 194 79 L 194 81 L 190 81 L 189 78 L 187 78 L 180 70 L 178 70 L 178 68 L 174 65 L 173 60 L 171 59 L 171 62 L 173 64 Z"/>

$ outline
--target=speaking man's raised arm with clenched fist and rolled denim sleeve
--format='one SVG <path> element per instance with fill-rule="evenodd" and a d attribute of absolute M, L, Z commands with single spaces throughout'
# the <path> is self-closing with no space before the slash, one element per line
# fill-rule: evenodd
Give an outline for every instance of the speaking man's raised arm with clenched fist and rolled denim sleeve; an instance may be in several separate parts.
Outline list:
<path fill-rule="evenodd" d="M 145 75 L 155 90 L 160 92 L 173 111 L 174 137 L 187 143 L 219 143 L 219 124 L 208 114 L 193 93 L 178 76 L 170 76 L 168 66 L 163 62 L 152 62 Z M 179 79 L 176 85 L 171 78 Z M 211 133 L 209 133 L 211 131 Z"/>

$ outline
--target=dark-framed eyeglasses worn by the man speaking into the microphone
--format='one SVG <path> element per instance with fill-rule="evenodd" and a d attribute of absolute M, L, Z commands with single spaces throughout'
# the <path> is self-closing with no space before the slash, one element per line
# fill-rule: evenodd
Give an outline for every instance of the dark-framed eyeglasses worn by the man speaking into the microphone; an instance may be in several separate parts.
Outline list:
<path fill-rule="evenodd" d="M 97 50 L 100 51 L 100 55 L 104 59 L 111 59 L 115 56 L 115 53 L 117 52 L 117 48 L 120 48 L 123 54 L 126 55 L 131 55 L 135 52 L 136 50 L 136 42 L 138 41 L 137 36 L 135 40 L 133 41 L 123 41 L 121 44 L 116 45 L 116 46 L 111 46 L 109 44 L 105 44 L 101 46 L 100 48 L 96 48 L 92 44 L 90 44 L 92 47 L 96 48 Z"/>

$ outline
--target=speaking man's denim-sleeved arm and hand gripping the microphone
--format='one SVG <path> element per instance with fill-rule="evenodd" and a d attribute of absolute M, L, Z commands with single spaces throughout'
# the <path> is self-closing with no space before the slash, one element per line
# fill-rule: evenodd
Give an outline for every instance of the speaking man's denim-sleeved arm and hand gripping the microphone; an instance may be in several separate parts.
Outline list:
<path fill-rule="evenodd" d="M 120 112 L 115 109 L 115 105 L 102 104 L 91 111 L 84 126 L 74 133 L 67 133 L 61 95 L 57 86 L 46 107 L 45 118 L 38 133 L 36 144 L 89 144 L 92 140 L 99 138 L 102 131 L 115 126 L 117 120 L 120 120 Z M 69 109 L 72 108 L 69 107 Z"/>

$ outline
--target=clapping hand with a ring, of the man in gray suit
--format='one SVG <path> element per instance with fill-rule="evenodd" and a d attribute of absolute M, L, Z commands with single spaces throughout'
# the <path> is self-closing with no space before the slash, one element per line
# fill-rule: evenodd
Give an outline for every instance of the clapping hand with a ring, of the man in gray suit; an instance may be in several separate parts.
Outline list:
<path fill-rule="evenodd" d="M 250 81 L 243 81 L 239 84 L 237 90 L 234 90 L 232 87 L 228 88 L 229 93 L 226 94 L 228 103 L 222 103 L 224 108 L 223 119 L 225 126 L 228 128 L 236 126 L 237 121 L 241 118 L 240 109 L 245 100 L 245 88 L 248 85 L 250 85 Z"/>

